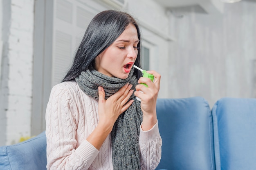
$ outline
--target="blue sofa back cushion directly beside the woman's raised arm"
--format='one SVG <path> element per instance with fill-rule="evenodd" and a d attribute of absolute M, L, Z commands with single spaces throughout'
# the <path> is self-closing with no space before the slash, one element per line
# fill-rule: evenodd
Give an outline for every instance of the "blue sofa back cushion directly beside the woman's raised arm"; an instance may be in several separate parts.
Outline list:
<path fill-rule="evenodd" d="M 201 97 L 158 99 L 162 158 L 156 170 L 215 170 L 213 122 Z"/>

